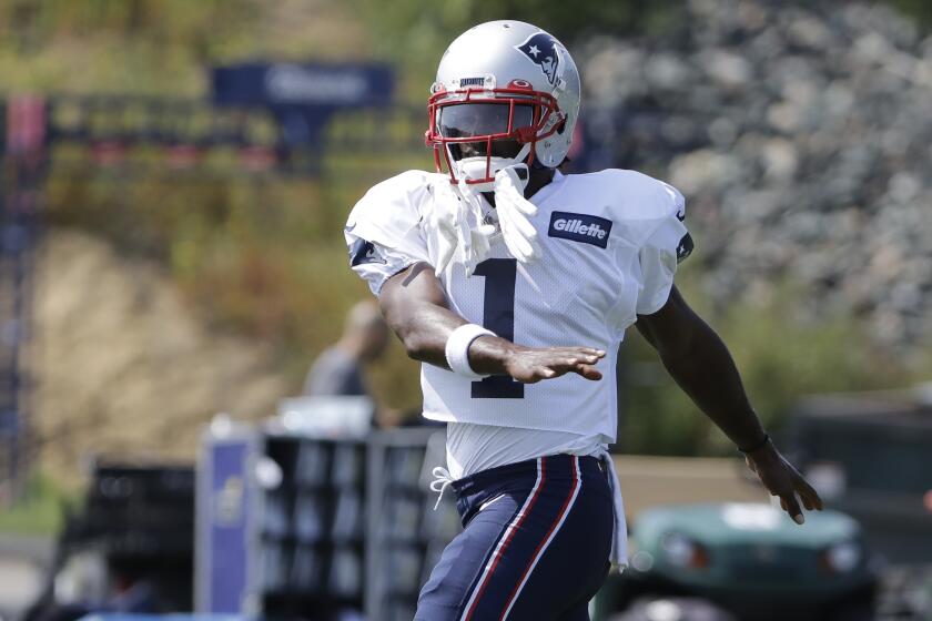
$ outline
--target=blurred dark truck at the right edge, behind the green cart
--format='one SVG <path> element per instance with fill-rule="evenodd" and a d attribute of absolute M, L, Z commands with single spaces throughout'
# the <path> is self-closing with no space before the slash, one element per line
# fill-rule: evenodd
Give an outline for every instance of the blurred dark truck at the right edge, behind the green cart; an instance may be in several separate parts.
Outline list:
<path fill-rule="evenodd" d="M 916 571 L 932 567 L 930 390 L 810 397 L 787 437 L 827 506 L 857 519 L 888 563 Z"/>

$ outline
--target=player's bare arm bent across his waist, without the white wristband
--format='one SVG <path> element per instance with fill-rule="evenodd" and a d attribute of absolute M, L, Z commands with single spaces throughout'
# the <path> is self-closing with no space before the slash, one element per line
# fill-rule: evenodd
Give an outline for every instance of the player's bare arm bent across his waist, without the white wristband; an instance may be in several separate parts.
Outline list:
<path fill-rule="evenodd" d="M 427 263 L 415 263 L 385 281 L 378 303 L 411 358 L 449 368 L 446 342 L 468 322 L 449 309 L 443 286 Z M 604 356 L 604 350 L 591 347 L 524 347 L 498 336 L 476 338 L 468 352 L 469 366 L 476 373 L 509 375 L 525 384 L 567 373 L 601 379 L 594 365 Z"/>

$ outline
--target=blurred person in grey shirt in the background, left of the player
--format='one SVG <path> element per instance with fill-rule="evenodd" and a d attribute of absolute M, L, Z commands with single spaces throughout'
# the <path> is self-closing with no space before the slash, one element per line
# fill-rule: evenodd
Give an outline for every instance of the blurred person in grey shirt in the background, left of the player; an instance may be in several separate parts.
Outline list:
<path fill-rule="evenodd" d="M 394 427 L 401 411 L 377 404 L 366 380 L 365 367 L 377 362 L 388 345 L 388 326 L 378 305 L 357 302 L 347 313 L 343 335 L 314 360 L 304 380 L 306 396 L 368 397 L 376 403 L 374 423 Z"/>

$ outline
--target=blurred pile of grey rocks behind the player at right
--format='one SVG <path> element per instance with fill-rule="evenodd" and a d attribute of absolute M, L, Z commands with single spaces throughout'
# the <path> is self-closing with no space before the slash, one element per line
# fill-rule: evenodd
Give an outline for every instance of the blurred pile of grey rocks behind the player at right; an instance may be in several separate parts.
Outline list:
<path fill-rule="evenodd" d="M 649 40 L 577 52 L 592 165 L 688 197 L 711 297 L 802 284 L 811 317 L 879 344 L 932 336 L 932 37 L 861 2 L 691 0 Z"/>

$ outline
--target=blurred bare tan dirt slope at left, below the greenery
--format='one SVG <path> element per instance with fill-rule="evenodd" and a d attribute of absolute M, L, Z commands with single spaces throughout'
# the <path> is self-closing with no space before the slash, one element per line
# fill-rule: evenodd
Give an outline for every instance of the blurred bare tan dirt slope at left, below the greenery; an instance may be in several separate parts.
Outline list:
<path fill-rule="evenodd" d="M 262 418 L 287 394 L 255 340 L 210 334 L 154 265 L 57 231 L 37 267 L 32 411 L 57 479 L 99 454 L 191 460 L 214 414 Z"/>

